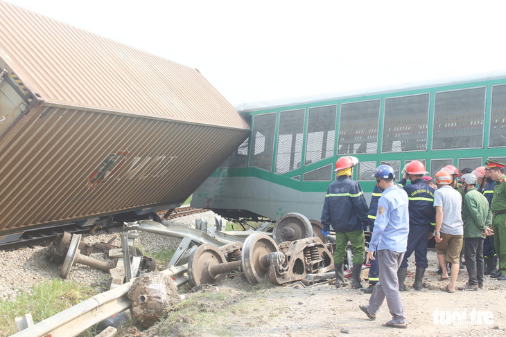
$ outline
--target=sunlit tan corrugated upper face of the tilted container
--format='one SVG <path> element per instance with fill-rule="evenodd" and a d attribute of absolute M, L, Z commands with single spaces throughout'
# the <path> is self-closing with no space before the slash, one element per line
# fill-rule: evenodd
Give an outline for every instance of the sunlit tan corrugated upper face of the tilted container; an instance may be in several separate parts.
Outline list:
<path fill-rule="evenodd" d="M 51 106 L 249 129 L 197 69 L 3 1 L 0 31 L 0 66 Z"/>

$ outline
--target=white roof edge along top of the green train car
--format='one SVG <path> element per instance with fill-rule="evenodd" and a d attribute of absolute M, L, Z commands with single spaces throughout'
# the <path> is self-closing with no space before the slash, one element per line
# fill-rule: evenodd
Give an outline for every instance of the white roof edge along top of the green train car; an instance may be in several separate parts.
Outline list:
<path fill-rule="evenodd" d="M 471 75 L 456 76 L 453 78 L 442 78 L 439 80 L 410 82 L 404 84 L 392 84 L 389 86 L 381 86 L 369 89 L 356 89 L 350 91 L 342 91 L 339 93 L 324 93 L 321 95 L 308 95 L 298 98 L 283 98 L 279 100 L 250 102 L 238 104 L 234 107 L 241 113 L 259 111 L 263 109 L 275 109 L 278 107 L 288 107 L 299 104 L 311 104 L 317 102 L 326 102 L 330 100 L 342 100 L 346 98 L 360 98 L 369 95 L 379 95 L 385 93 L 394 93 L 400 91 L 411 91 L 417 89 L 427 89 L 435 86 L 464 84 L 468 82 L 489 81 L 506 78 L 506 69 L 491 71 L 488 73 L 477 73 Z"/>

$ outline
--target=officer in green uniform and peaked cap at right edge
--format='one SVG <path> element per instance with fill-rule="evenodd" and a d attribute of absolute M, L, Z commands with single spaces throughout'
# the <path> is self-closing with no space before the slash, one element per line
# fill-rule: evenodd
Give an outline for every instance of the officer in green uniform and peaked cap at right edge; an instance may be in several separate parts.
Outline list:
<path fill-rule="evenodd" d="M 499 256 L 499 274 L 497 280 L 506 280 L 506 176 L 503 163 L 488 160 L 491 170 L 490 177 L 496 181 L 494 197 L 490 210 L 492 211 L 492 230 L 494 231 L 494 247 Z M 495 277 L 495 275 L 490 275 Z"/>

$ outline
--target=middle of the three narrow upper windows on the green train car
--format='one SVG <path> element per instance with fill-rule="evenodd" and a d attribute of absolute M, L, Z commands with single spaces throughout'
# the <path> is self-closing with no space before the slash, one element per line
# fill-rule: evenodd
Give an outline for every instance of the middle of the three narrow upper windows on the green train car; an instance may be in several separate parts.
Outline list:
<path fill-rule="evenodd" d="M 276 151 L 276 173 L 283 174 L 302 166 L 305 109 L 282 111 Z"/>

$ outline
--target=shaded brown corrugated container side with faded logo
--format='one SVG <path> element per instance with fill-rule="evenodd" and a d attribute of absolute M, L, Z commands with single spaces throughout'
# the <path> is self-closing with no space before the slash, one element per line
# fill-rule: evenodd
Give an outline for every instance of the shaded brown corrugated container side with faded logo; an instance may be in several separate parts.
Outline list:
<path fill-rule="evenodd" d="M 52 108 L 0 154 L 0 231 L 180 203 L 248 133 Z"/>

